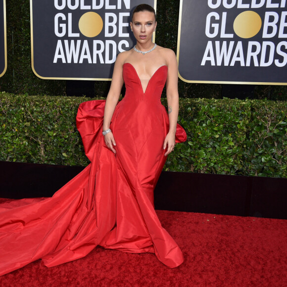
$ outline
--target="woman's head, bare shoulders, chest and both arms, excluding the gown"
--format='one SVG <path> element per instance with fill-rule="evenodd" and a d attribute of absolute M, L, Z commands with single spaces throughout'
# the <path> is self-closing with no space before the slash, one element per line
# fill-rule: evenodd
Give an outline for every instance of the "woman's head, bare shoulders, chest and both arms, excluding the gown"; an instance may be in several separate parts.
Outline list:
<path fill-rule="evenodd" d="M 179 99 L 178 99 L 178 70 L 177 60 L 174 52 L 167 48 L 156 46 L 152 43 L 152 35 L 156 29 L 156 16 L 154 9 L 142 4 L 135 8 L 130 23 L 131 30 L 137 40 L 134 49 L 123 52 L 118 55 L 111 83 L 111 88 L 106 100 L 103 129 L 109 129 L 109 123 L 118 102 L 120 91 L 123 85 L 123 65 L 129 63 L 133 66 L 132 72 L 138 74 L 143 91 L 146 90 L 149 80 L 155 72 L 161 67 L 168 68 L 166 91 L 169 110 L 169 133 L 167 134 L 163 149 L 167 150 L 168 155 L 175 146 L 175 132 L 177 126 Z M 142 53 L 141 51 L 148 51 Z M 145 55 L 143 57 L 143 55 Z M 116 145 L 112 133 L 105 136 L 106 145 L 116 152 Z"/>

